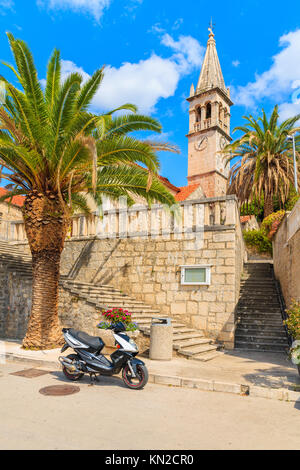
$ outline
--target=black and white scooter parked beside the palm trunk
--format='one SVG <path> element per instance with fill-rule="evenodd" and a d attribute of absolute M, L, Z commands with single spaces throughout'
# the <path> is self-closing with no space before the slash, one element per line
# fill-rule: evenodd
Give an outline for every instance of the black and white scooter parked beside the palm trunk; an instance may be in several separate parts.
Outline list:
<path fill-rule="evenodd" d="M 113 324 L 109 329 L 112 330 L 117 347 L 110 360 L 101 353 L 105 343 L 98 336 L 89 336 L 73 328 L 62 330 L 66 344 L 61 352 L 72 348 L 76 353 L 59 357 L 64 375 L 69 380 L 77 381 L 89 374 L 93 384 L 93 380 L 98 381 L 98 375 L 112 376 L 122 371 L 123 382 L 127 387 L 132 390 L 142 389 L 148 382 L 148 371 L 145 363 L 136 359 L 139 352 L 137 345 L 124 333 L 126 328 L 123 323 Z"/>

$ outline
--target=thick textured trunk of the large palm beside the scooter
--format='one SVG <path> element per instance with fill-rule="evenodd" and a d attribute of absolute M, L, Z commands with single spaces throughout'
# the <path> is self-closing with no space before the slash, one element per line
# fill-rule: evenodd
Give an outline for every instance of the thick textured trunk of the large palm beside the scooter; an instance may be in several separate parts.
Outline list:
<path fill-rule="evenodd" d="M 32 253 L 33 285 L 23 347 L 52 349 L 63 341 L 58 318 L 58 283 L 69 217 L 56 195 L 32 192 L 24 204 L 24 221 Z"/>

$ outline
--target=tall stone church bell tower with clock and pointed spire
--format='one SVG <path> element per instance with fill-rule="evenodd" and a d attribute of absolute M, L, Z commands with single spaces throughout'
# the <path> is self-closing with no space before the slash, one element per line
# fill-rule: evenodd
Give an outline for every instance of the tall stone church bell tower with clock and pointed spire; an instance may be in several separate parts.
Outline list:
<path fill-rule="evenodd" d="M 215 35 L 209 39 L 197 88 L 191 86 L 188 133 L 188 184 L 199 183 L 206 197 L 226 194 L 229 165 L 223 150 L 231 142 L 230 99 L 226 88 Z"/>

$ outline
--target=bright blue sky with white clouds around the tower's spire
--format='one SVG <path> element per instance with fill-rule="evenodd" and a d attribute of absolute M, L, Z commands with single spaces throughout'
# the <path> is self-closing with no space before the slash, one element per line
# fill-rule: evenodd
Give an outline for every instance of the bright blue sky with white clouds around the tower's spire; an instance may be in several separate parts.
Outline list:
<path fill-rule="evenodd" d="M 11 61 L 5 36 L 30 45 L 40 79 L 54 47 L 65 73 L 84 76 L 106 65 L 94 108 L 137 104 L 163 125 L 162 139 L 180 147 L 163 154 L 162 171 L 186 184 L 188 96 L 201 69 L 213 17 L 218 54 L 235 106 L 232 128 L 245 113 L 300 113 L 300 4 L 277 0 L 0 0 L 0 58 Z M 10 77 L 7 69 L 1 74 Z M 298 102 L 299 101 L 299 102 Z"/>

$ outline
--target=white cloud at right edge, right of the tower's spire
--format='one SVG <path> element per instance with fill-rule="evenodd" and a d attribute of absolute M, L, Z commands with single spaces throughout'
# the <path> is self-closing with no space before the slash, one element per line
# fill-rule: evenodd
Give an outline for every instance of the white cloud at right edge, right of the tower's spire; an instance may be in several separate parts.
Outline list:
<path fill-rule="evenodd" d="M 287 100 L 293 88 L 299 86 L 300 29 L 282 36 L 279 46 L 282 49 L 272 58 L 272 65 L 268 70 L 257 74 L 255 81 L 246 86 L 233 88 L 232 96 L 236 104 L 255 107 L 260 100 L 269 98 L 281 102 L 281 109 L 285 114 L 295 109 L 291 106 L 292 103 L 287 106 Z"/>

